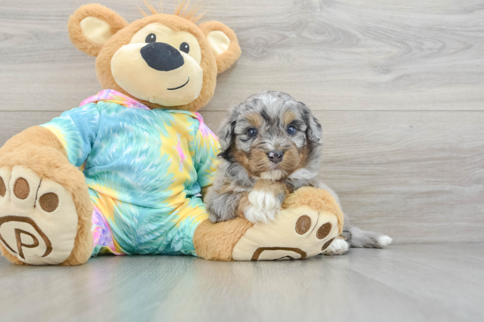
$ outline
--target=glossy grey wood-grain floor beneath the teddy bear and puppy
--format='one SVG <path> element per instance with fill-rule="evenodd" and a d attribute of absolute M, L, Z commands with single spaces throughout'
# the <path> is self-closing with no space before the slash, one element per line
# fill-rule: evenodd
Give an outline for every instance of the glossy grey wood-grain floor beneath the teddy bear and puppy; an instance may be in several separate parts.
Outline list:
<path fill-rule="evenodd" d="M 2 321 L 482 321 L 484 245 L 351 249 L 295 261 L 0 258 Z"/>

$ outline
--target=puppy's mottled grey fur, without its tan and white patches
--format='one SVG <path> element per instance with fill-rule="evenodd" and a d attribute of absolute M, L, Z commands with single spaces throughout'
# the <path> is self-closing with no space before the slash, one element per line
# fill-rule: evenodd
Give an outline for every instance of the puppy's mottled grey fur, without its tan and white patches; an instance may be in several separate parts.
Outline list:
<path fill-rule="evenodd" d="M 294 113 L 295 118 L 291 124 L 296 128 L 294 135 L 286 133 L 287 124 L 283 121 L 284 112 Z M 247 121 L 250 114 L 260 114 L 264 120 L 257 129 L 257 138 L 247 135 L 247 129 L 252 125 Z M 264 152 L 270 150 L 284 150 L 290 146 L 298 149 L 307 147 L 307 156 L 304 165 L 294 169 L 292 173 L 285 171 L 282 178 L 289 191 L 303 186 L 315 186 L 328 190 L 339 203 L 337 194 L 317 179 L 322 157 L 323 136 L 321 123 L 314 117 L 311 110 L 301 102 L 295 101 L 290 95 L 263 91 L 247 98 L 238 106 L 232 107 L 219 128 L 218 137 L 221 145 L 219 168 L 214 184 L 208 189 L 205 204 L 211 222 L 234 219 L 237 207 L 243 193 L 250 192 L 261 176 L 259 173 L 249 171 L 236 160 L 234 151 L 243 151 L 249 154 L 251 148 L 257 146 Z M 258 160 L 249 160 L 253 163 Z M 269 163 L 270 165 L 270 163 Z M 251 172 L 249 174 L 249 172 Z M 254 175 L 255 173 L 255 175 Z M 269 173 L 269 175 L 268 175 Z M 266 172 L 266 176 L 276 171 Z M 220 190 L 224 188 L 221 193 Z M 228 189 L 227 189 L 228 187 Z M 282 200 L 281 200 L 282 204 Z M 342 236 L 352 247 L 381 248 L 381 235 L 367 232 L 350 225 L 345 215 Z M 384 236 L 387 237 L 387 236 Z M 390 239 L 391 241 L 391 239 Z"/>

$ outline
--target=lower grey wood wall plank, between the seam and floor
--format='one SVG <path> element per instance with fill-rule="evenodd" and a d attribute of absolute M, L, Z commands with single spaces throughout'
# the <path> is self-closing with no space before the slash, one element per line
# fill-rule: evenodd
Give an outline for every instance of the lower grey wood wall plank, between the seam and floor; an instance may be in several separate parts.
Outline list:
<path fill-rule="evenodd" d="M 0 144 L 59 112 L 0 112 Z M 202 112 L 217 129 L 224 113 Z M 320 179 L 352 223 L 400 243 L 484 242 L 484 112 L 317 111 Z"/>

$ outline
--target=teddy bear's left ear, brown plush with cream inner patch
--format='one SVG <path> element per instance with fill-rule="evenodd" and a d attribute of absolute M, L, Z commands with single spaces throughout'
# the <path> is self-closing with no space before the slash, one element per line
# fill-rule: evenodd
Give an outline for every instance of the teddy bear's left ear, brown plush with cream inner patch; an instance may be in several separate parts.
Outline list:
<path fill-rule="evenodd" d="M 97 56 L 106 40 L 128 23 L 119 14 L 97 3 L 81 6 L 70 17 L 67 28 L 72 43 L 82 52 Z"/>

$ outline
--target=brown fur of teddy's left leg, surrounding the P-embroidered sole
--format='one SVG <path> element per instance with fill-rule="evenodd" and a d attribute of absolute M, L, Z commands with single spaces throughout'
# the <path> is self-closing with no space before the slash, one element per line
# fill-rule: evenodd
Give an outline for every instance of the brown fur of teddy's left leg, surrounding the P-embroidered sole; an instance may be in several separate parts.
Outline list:
<path fill-rule="evenodd" d="M 92 252 L 91 203 L 82 172 L 67 160 L 61 143 L 49 130 L 40 126 L 29 128 L 8 140 L 0 149 L 2 167 L 24 166 L 36 172 L 41 179 L 50 179 L 71 193 L 78 213 L 78 234 L 71 255 L 60 265 L 85 263 Z M 59 147 L 61 150 L 59 150 Z M 0 245 L 1 246 L 1 245 Z M 2 254 L 18 264 L 14 256 L 1 247 Z M 15 260 L 12 260 L 12 259 Z"/>

